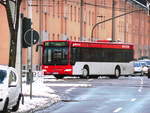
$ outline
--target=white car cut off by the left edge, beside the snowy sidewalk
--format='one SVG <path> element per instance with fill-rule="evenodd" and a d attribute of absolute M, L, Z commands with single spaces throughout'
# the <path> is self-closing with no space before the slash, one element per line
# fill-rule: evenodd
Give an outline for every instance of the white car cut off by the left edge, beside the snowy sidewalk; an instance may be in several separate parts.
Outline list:
<path fill-rule="evenodd" d="M 19 75 L 12 67 L 0 65 L 0 112 L 17 111 L 21 99 Z"/>

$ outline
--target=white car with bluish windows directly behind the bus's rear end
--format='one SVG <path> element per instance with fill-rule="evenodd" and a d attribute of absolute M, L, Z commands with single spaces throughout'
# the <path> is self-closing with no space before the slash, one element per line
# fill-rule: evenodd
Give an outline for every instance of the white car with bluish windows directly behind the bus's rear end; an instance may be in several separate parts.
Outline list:
<path fill-rule="evenodd" d="M 135 61 L 134 62 L 134 74 L 145 75 L 148 73 L 148 67 L 145 62 Z"/>

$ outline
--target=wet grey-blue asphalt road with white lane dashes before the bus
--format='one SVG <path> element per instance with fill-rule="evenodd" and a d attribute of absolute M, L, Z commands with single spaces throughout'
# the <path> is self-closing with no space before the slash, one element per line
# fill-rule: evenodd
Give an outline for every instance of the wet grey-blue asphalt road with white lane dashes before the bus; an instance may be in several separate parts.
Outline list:
<path fill-rule="evenodd" d="M 36 113 L 150 113 L 150 79 L 70 78 L 49 82 L 62 101 Z"/>

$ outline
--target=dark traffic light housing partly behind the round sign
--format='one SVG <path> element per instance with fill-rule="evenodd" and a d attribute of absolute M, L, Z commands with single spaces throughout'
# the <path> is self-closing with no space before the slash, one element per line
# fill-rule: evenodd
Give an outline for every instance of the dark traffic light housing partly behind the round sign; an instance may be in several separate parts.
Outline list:
<path fill-rule="evenodd" d="M 23 17 L 22 19 L 22 47 L 23 48 L 29 47 L 29 45 L 24 40 L 24 36 L 25 36 L 26 31 L 31 29 L 31 25 L 32 25 L 31 19 L 27 17 Z"/>

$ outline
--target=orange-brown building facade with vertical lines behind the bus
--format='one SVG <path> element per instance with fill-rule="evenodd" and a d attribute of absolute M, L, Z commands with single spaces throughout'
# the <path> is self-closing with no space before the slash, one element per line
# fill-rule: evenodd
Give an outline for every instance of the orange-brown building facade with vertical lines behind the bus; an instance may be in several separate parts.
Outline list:
<path fill-rule="evenodd" d="M 0 52 L 3 54 L 0 64 L 8 64 L 9 30 L 5 10 L 0 7 Z M 40 34 L 40 42 L 69 39 L 133 43 L 135 58 L 150 56 L 150 17 L 146 10 L 103 22 L 95 27 L 93 34 L 91 31 L 98 22 L 141 9 L 129 0 L 23 0 L 21 4 L 21 12 L 31 18 L 32 28 Z M 24 64 L 27 59 L 27 49 L 23 49 Z M 41 55 L 35 52 L 35 47 L 33 63 L 41 63 Z"/>

